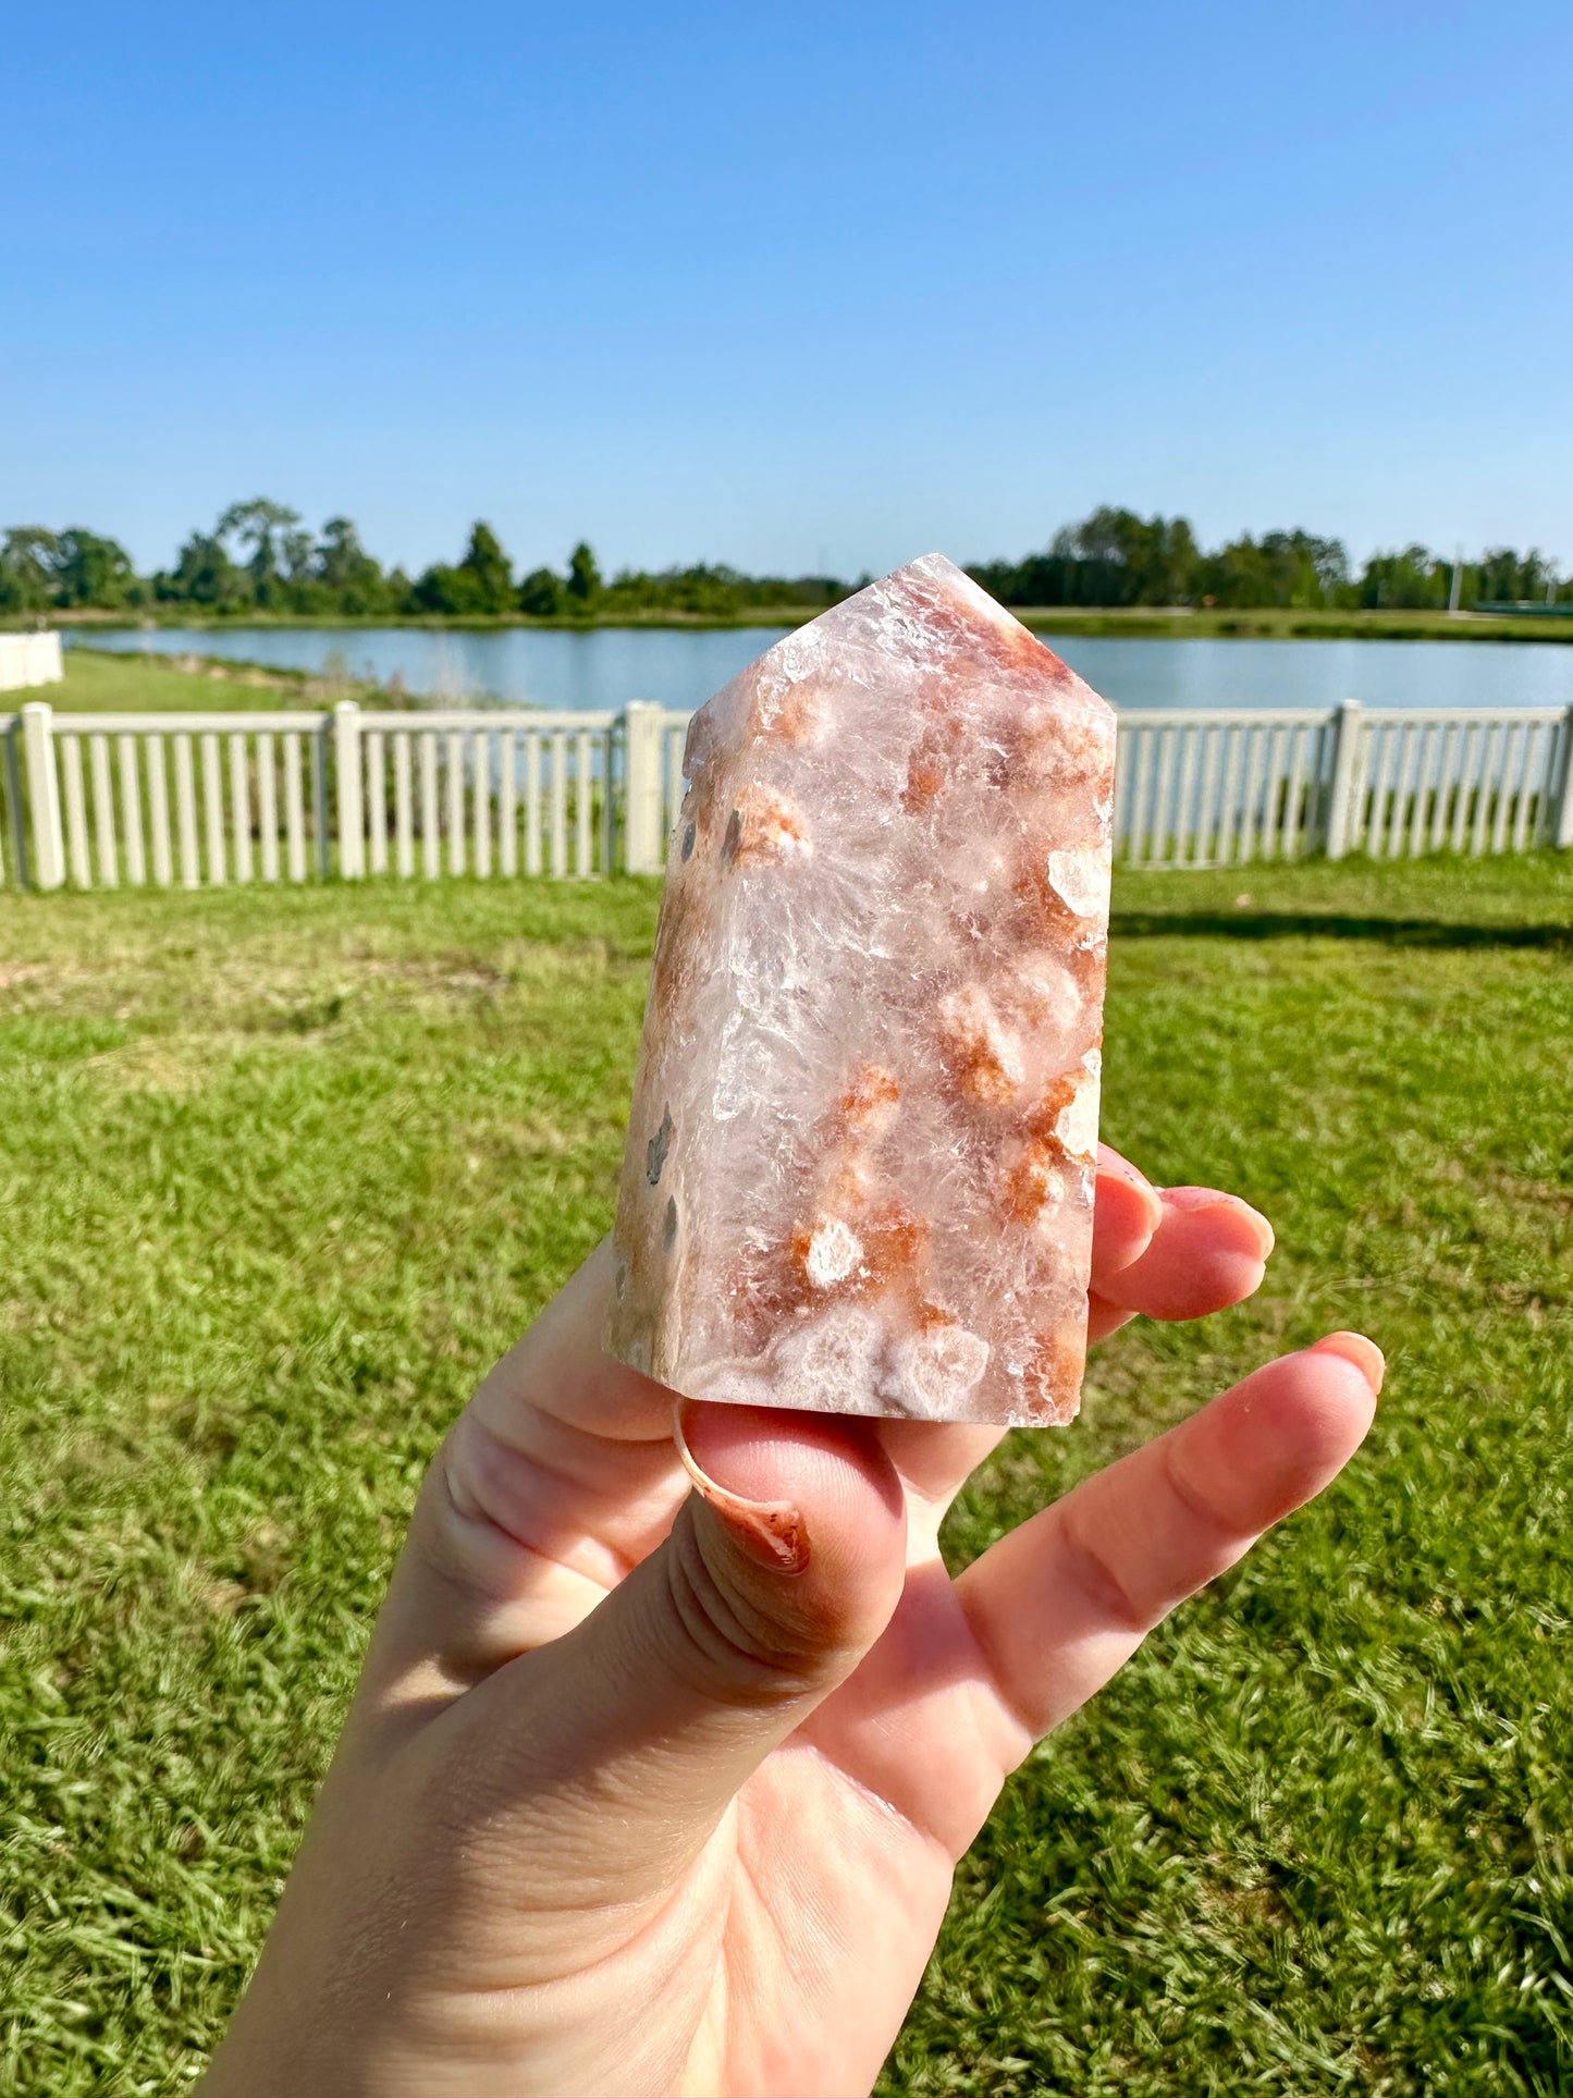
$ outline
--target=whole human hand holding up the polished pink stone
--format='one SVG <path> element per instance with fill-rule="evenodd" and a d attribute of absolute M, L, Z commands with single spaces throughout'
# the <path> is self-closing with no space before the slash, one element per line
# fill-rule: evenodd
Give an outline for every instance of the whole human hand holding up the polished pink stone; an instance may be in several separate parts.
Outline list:
<path fill-rule="evenodd" d="M 1101 1150 L 1093 1339 L 1269 1253 Z M 602 1244 L 432 1464 L 210 2098 L 866 2092 L 1009 1773 L 1338 1473 L 1382 1374 L 1357 1334 L 1271 1362 L 952 1582 L 1000 1431 L 690 1406 L 690 1492 L 608 1286 Z"/>

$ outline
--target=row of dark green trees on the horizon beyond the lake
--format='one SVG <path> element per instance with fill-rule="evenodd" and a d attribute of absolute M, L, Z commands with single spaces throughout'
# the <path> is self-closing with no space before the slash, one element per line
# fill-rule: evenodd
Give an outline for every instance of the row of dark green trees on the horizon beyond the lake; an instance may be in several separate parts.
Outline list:
<path fill-rule="evenodd" d="M 1529 550 L 1489 548 L 1456 562 L 1424 545 L 1378 552 L 1355 571 L 1342 539 L 1307 531 L 1244 533 L 1204 550 L 1185 518 L 1095 510 L 1042 554 L 969 571 L 1013 606 L 1305 606 L 1445 611 L 1449 604 L 1573 602 L 1573 577 Z M 738 569 L 623 569 L 602 577 L 579 543 L 562 573 L 516 575 L 491 524 L 476 522 L 455 562 L 411 577 L 384 569 L 348 518 L 319 533 L 296 510 L 256 497 L 193 531 L 172 569 L 138 575 L 115 539 L 84 527 L 10 527 L 0 539 L 0 613 L 155 611 L 289 617 L 617 619 L 640 613 L 734 617 L 757 606 L 822 608 L 858 590 L 828 575 L 742 575 Z"/>

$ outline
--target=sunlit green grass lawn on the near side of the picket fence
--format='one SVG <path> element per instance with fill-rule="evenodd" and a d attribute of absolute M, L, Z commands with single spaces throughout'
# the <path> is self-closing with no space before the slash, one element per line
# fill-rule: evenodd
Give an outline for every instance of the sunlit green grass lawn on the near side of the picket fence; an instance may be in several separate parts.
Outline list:
<path fill-rule="evenodd" d="M 6 898 L 6 2094 L 199 2073 L 422 1467 L 608 1221 L 654 911 Z M 1118 883 L 1105 1131 L 1279 1255 L 1250 1307 L 1109 1343 L 952 1555 L 1332 1326 L 1388 1389 L 1015 1779 L 887 2094 L 1573 2083 L 1571 925 L 1546 858 Z"/>

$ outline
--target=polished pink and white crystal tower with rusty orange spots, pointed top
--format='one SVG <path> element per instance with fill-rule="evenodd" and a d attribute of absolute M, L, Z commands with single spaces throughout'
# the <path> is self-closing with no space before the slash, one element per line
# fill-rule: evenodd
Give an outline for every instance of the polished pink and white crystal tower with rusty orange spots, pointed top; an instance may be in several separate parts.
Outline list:
<path fill-rule="evenodd" d="M 694 1399 L 1076 1412 L 1114 715 L 940 554 L 688 730 L 608 1347 Z"/>

